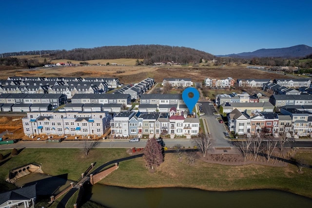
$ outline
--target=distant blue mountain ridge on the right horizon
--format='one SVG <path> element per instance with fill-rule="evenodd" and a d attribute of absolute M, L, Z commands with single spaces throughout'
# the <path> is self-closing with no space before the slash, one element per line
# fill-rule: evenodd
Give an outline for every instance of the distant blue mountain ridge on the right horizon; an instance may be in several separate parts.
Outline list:
<path fill-rule="evenodd" d="M 300 58 L 312 54 L 312 47 L 307 45 L 295 45 L 287 48 L 259 49 L 254 52 L 244 52 L 239 54 L 217 55 L 216 57 L 283 57 Z"/>

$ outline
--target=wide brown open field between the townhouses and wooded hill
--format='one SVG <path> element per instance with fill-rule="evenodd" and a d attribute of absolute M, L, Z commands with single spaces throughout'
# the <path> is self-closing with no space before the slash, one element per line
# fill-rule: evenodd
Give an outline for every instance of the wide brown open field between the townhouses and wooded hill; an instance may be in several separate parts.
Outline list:
<path fill-rule="evenodd" d="M 124 59 L 120 59 L 125 61 Z M 65 61 L 65 60 L 63 60 Z M 94 60 L 96 63 L 101 60 Z M 110 63 L 119 63 L 118 60 L 105 60 Z M 164 78 L 191 78 L 194 82 L 202 82 L 204 78 L 286 78 L 283 74 L 268 73 L 256 69 L 246 69 L 243 66 L 218 67 L 188 67 L 188 66 L 75 66 L 75 67 L 53 67 L 37 69 L 13 69 L 0 71 L 0 78 L 8 76 L 81 76 L 81 77 L 118 77 L 121 83 L 129 84 L 139 82 L 146 77 L 155 78 L 156 82 L 162 82 Z M 124 71 L 118 73 L 117 71 Z"/>

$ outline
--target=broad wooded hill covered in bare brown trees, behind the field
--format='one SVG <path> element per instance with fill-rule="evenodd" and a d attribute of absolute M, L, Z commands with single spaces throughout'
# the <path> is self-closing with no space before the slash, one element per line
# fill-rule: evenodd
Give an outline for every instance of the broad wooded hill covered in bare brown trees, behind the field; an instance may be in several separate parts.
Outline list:
<path fill-rule="evenodd" d="M 103 46 L 97 48 L 76 48 L 70 51 L 59 51 L 53 54 L 54 59 L 96 60 L 135 58 L 144 59 L 144 64 L 174 61 L 176 63 L 195 63 L 202 59 L 211 60 L 212 54 L 187 47 L 167 45 L 130 45 Z"/>

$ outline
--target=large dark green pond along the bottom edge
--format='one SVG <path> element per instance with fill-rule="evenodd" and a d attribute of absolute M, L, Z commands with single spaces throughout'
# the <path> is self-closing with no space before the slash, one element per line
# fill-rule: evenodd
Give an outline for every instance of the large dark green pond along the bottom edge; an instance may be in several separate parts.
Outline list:
<path fill-rule="evenodd" d="M 128 189 L 96 184 L 91 201 L 109 208 L 311 208 L 312 199 L 280 190 Z"/>

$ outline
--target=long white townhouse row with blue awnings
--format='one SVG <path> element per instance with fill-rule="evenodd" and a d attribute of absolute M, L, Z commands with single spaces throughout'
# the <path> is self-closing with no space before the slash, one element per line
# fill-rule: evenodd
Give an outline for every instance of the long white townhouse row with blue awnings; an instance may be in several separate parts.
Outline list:
<path fill-rule="evenodd" d="M 110 126 L 108 112 L 27 112 L 22 118 L 24 134 L 101 136 Z"/>

